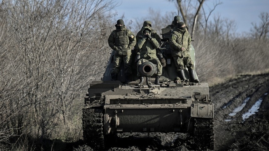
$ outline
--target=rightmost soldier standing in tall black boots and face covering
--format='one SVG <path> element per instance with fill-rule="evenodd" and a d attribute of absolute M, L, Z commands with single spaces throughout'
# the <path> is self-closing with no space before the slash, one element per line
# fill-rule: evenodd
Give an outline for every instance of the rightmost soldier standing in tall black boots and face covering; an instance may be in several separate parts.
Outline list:
<path fill-rule="evenodd" d="M 190 73 L 190 82 L 198 83 L 198 79 L 195 79 L 194 63 L 190 58 L 191 37 L 184 22 L 177 23 L 177 27 L 170 34 L 169 43 L 180 79 L 187 81 L 184 74 L 186 65 Z"/>

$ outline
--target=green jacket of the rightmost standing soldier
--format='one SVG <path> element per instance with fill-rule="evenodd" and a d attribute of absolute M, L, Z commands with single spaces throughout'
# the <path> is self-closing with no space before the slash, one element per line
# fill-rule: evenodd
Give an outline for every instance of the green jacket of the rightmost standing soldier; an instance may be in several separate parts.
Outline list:
<path fill-rule="evenodd" d="M 174 28 L 170 33 L 169 44 L 172 49 L 172 57 L 190 56 L 191 37 L 187 29 L 183 31 L 179 28 Z M 182 47 L 185 48 L 184 51 L 180 50 Z"/>

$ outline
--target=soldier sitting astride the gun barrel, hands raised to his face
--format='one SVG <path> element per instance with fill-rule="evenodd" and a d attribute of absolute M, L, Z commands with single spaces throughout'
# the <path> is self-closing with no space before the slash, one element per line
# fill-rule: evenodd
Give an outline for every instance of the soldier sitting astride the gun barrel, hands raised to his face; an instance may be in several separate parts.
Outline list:
<path fill-rule="evenodd" d="M 145 81 L 145 78 L 140 75 L 138 70 L 139 65 L 142 64 L 142 60 L 145 62 L 150 61 L 151 63 L 157 65 L 158 71 L 154 83 L 160 84 L 159 78 L 162 74 L 162 65 L 156 56 L 156 49 L 160 46 L 160 43 L 156 40 L 156 38 L 151 37 L 150 27 L 144 27 L 142 31 L 144 36 L 136 43 L 136 47 L 140 50 L 140 59 L 137 63 L 137 76 L 140 77 L 140 82 L 138 85 L 141 85 Z"/>

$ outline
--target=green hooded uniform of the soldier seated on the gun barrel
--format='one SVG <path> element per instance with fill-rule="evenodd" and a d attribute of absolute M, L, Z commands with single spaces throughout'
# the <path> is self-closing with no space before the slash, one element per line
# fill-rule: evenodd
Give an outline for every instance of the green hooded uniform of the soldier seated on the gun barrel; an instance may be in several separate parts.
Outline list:
<path fill-rule="evenodd" d="M 151 30 L 150 27 L 144 27 L 142 29 L 142 31 L 148 28 Z M 143 34 L 144 35 L 144 34 Z M 136 43 L 136 47 L 140 50 L 140 59 L 137 63 L 137 76 L 140 77 L 140 73 L 138 70 L 138 67 L 140 64 L 142 64 L 143 62 L 146 61 L 150 61 L 153 64 L 157 65 L 157 75 L 161 75 L 162 74 L 162 65 L 160 63 L 160 60 L 157 58 L 156 56 L 156 49 L 160 46 L 160 43 L 156 40 L 156 38 L 141 38 L 137 43 Z"/>

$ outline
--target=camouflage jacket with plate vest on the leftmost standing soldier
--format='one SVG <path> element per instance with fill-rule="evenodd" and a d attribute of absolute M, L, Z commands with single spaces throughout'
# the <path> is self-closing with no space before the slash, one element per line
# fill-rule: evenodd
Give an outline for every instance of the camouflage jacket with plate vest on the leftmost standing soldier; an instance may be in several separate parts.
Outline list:
<path fill-rule="evenodd" d="M 131 49 L 135 43 L 135 35 L 125 26 L 123 29 L 112 31 L 108 38 L 109 47 L 115 50 L 116 55 L 131 54 Z"/>

